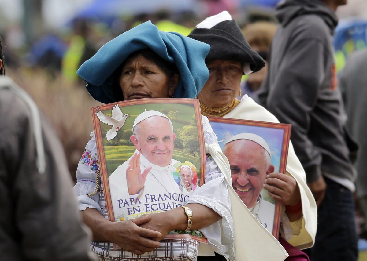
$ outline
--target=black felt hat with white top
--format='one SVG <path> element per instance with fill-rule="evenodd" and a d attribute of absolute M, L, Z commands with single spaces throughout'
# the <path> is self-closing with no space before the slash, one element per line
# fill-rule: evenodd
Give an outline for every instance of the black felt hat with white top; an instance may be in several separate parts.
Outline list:
<path fill-rule="evenodd" d="M 265 60 L 251 49 L 240 27 L 227 11 L 199 23 L 189 37 L 210 45 L 206 62 L 218 59 L 239 61 L 243 64 L 244 74 L 265 66 Z"/>

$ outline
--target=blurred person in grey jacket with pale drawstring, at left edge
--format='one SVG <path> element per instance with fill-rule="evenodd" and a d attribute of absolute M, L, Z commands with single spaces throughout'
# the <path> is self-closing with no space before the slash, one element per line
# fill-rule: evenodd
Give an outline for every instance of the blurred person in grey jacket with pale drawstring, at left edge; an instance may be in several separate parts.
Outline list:
<path fill-rule="evenodd" d="M 0 74 L 1 260 L 97 260 L 61 144 L 30 96 L 4 75 L 1 39 Z"/>

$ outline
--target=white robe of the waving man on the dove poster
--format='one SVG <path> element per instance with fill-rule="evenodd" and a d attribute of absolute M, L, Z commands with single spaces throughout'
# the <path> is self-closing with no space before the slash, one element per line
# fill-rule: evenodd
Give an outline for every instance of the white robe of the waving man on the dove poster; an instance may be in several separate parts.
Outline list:
<path fill-rule="evenodd" d="M 140 154 L 137 150 L 135 153 Z M 175 168 L 172 165 L 178 162 L 175 159 L 171 159 L 168 166 L 161 167 L 152 164 L 140 154 L 141 173 L 149 166 L 152 169 L 142 190 L 136 195 L 129 195 L 126 170 L 132 157 L 117 167 L 108 179 L 115 219 L 122 216 L 124 219 L 132 219 L 142 214 L 158 213 L 184 205 L 192 192 L 180 190 L 174 180 L 172 172 Z"/>

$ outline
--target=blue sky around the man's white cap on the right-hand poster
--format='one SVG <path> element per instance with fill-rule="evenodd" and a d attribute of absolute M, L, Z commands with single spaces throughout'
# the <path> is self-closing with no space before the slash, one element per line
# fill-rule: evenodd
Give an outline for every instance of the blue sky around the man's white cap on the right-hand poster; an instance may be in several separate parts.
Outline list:
<path fill-rule="evenodd" d="M 279 165 L 281 159 L 281 147 L 283 143 L 284 130 L 275 128 L 266 128 L 258 126 L 247 126 L 240 124 L 230 124 L 222 122 L 210 122 L 215 134 L 218 136 L 218 141 L 225 139 L 239 133 L 250 132 L 261 136 L 270 147 L 272 152 L 272 165 L 275 167 L 275 172 L 279 172 Z M 223 149 L 225 140 L 219 142 L 219 146 Z"/>

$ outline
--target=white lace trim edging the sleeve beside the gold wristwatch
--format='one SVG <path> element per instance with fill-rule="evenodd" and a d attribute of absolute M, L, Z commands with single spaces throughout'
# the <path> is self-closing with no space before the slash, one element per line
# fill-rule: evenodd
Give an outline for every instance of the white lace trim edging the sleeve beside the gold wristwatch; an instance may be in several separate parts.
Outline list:
<path fill-rule="evenodd" d="M 208 206 L 211 209 L 213 209 L 215 212 L 217 212 L 219 215 L 222 216 L 221 227 L 222 227 L 222 231 L 224 234 L 224 238 L 222 238 L 222 240 L 225 243 L 229 244 L 229 250 L 226 250 L 227 246 L 225 245 L 217 246 L 214 243 L 210 242 L 210 240 L 208 240 L 208 242 L 211 244 L 210 246 L 211 249 L 213 249 L 215 252 L 225 257 L 228 257 L 230 260 L 235 260 L 234 251 L 233 251 L 233 246 L 234 246 L 233 234 L 234 234 L 235 228 L 233 224 L 232 215 L 228 211 L 228 209 L 226 209 L 221 204 L 217 203 L 217 201 L 214 201 L 207 197 L 197 196 L 197 195 L 191 196 L 189 201 L 186 202 L 185 204 L 188 204 L 188 203 L 199 203 L 201 205 Z"/>

